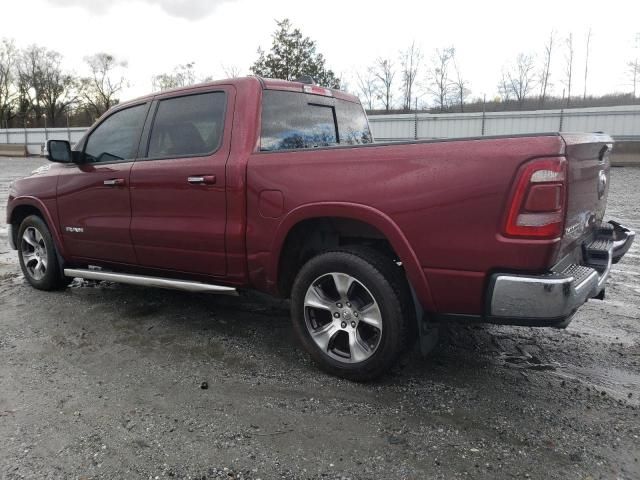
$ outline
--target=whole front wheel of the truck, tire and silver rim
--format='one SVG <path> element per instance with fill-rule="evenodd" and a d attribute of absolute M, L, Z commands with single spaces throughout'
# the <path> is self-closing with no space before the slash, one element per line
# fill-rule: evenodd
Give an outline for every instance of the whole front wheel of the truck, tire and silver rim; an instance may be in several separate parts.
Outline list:
<path fill-rule="evenodd" d="M 60 270 L 58 253 L 47 224 L 37 215 L 25 218 L 18 229 L 18 259 L 22 274 L 38 290 L 60 290 L 73 280 Z"/>

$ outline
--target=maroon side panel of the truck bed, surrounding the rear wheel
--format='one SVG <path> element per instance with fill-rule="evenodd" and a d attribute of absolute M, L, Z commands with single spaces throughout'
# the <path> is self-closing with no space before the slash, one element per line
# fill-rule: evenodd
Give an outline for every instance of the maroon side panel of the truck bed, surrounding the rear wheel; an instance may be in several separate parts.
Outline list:
<path fill-rule="evenodd" d="M 555 241 L 512 240 L 498 232 L 518 166 L 563 149 L 562 139 L 549 135 L 255 153 L 247 167 L 252 280 L 258 286 L 275 282 L 273 257 L 292 212 L 308 205 L 363 205 L 406 239 L 403 251 L 391 243 L 407 271 L 422 272 L 422 278 L 410 275 L 412 282 L 428 283 L 414 285 L 423 305 L 480 313 L 488 271 L 541 270 L 555 257 Z M 265 190 L 282 193 L 277 218 L 259 210 Z M 356 208 L 344 215 L 361 219 Z"/>

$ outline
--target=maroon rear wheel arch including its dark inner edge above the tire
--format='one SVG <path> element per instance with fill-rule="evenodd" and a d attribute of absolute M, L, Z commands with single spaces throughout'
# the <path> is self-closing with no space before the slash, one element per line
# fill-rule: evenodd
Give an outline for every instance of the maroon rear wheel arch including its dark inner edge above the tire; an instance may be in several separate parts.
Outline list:
<path fill-rule="evenodd" d="M 386 242 L 402 262 L 407 280 L 423 307 L 429 310 L 434 308 L 431 292 L 420 262 L 398 225 L 385 213 L 367 205 L 354 203 L 332 202 L 303 205 L 292 210 L 284 218 L 276 230 L 271 246 L 272 255 L 267 278 L 274 290 L 283 296 L 288 296 L 293 279 L 291 272 L 287 271 L 287 262 L 292 261 L 292 255 L 289 255 L 291 244 L 296 244 L 299 232 L 305 232 L 307 236 L 303 238 L 308 238 L 314 228 L 334 220 L 346 222 L 351 227 L 359 225 L 365 229 L 360 230 L 365 232 L 364 238 Z M 382 244 L 380 244 L 380 248 L 383 248 Z M 313 248 L 311 250 L 313 251 Z M 295 259 L 293 261 L 295 262 Z"/>

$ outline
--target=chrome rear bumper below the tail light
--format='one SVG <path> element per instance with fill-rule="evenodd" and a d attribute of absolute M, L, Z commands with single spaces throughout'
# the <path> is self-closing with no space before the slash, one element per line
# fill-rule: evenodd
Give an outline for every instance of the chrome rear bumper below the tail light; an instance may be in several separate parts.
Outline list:
<path fill-rule="evenodd" d="M 604 294 L 613 263 L 629 250 L 635 232 L 609 222 L 583 247 L 580 264 L 559 264 L 540 275 L 496 273 L 488 290 L 487 320 L 496 323 L 564 326 L 587 300 Z"/>

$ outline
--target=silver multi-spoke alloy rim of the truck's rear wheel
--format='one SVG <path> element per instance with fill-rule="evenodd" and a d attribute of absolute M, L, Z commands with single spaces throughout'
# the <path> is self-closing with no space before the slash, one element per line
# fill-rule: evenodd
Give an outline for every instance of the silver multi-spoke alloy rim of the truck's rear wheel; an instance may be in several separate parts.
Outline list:
<path fill-rule="evenodd" d="M 363 362 L 380 345 L 378 302 L 351 275 L 333 272 L 316 278 L 304 298 L 304 319 L 315 344 L 340 362 Z"/>

